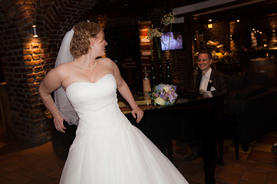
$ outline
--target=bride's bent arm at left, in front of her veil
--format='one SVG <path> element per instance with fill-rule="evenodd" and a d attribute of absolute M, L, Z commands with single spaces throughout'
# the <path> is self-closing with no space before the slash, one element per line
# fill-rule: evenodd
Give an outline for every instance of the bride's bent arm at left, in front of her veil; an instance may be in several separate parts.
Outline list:
<path fill-rule="evenodd" d="M 51 96 L 51 93 L 62 85 L 62 80 L 58 73 L 57 68 L 53 68 L 47 73 L 46 77 L 44 77 L 44 80 L 42 80 L 39 85 L 39 95 L 46 108 L 51 111 L 56 129 L 65 133 L 64 129 L 66 129 L 66 127 L 64 127 L 64 119 L 59 111 L 57 111 L 57 107 L 55 107 L 55 102 Z"/>

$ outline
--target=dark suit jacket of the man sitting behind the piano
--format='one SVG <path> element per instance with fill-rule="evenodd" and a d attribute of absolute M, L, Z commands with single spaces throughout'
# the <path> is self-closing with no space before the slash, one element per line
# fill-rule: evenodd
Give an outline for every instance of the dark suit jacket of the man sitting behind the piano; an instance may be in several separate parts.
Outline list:
<path fill-rule="evenodd" d="M 196 91 L 199 91 L 200 83 L 202 79 L 202 73 L 198 73 L 196 76 Z M 211 91 L 211 87 L 213 86 L 217 92 L 229 94 L 229 86 L 227 82 L 227 77 L 220 73 L 219 71 L 215 71 L 212 69 L 211 77 L 210 77 L 211 83 L 208 83 L 207 91 Z M 209 81 L 210 81 L 209 80 Z"/>

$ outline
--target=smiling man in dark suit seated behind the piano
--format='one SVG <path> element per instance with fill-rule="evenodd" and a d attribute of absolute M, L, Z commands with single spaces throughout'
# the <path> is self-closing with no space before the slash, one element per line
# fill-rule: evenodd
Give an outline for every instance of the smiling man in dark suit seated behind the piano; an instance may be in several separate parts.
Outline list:
<path fill-rule="evenodd" d="M 211 52 L 208 50 L 201 50 L 198 55 L 198 67 L 201 72 L 196 77 L 196 91 L 217 91 L 220 93 L 229 94 L 229 87 L 226 76 L 211 68 L 212 63 L 213 56 L 211 55 Z M 224 104 L 225 106 L 228 104 L 228 98 L 225 99 Z M 202 115 L 204 114 L 202 113 Z M 206 121 L 204 117 L 198 116 L 198 118 L 203 118 L 203 121 Z M 188 156 L 186 160 L 195 160 L 196 158 L 202 156 L 200 142 L 197 140 L 197 138 L 195 139 L 196 140 L 189 142 L 190 149 L 192 150 L 193 154 Z"/>

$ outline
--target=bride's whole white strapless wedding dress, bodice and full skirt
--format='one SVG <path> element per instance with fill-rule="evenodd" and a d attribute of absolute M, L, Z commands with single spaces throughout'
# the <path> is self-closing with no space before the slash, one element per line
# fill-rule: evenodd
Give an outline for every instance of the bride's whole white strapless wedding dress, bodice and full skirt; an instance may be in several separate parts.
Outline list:
<path fill-rule="evenodd" d="M 66 89 L 80 117 L 60 183 L 188 183 L 170 160 L 118 108 L 116 80 L 75 82 Z"/>

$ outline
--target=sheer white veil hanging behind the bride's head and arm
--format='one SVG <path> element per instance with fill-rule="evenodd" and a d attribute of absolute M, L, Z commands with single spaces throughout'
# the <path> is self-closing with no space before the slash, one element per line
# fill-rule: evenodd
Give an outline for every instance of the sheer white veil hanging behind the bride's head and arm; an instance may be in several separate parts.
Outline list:
<path fill-rule="evenodd" d="M 74 60 L 74 57 L 70 53 L 70 42 L 73 37 L 74 30 L 69 30 L 64 39 L 62 40 L 62 45 L 60 46 L 59 53 L 57 54 L 57 59 L 55 62 L 55 67 L 63 64 L 65 62 L 71 62 Z M 62 86 L 54 92 L 55 95 L 55 106 L 57 110 L 60 112 L 60 115 L 69 125 L 78 125 L 79 117 L 77 113 L 74 111 L 71 103 L 69 102 L 66 91 L 62 88 Z"/>

